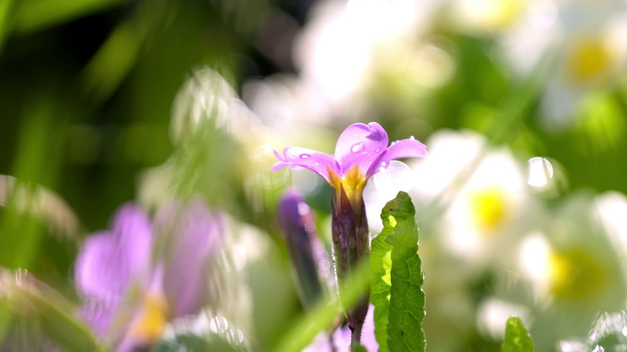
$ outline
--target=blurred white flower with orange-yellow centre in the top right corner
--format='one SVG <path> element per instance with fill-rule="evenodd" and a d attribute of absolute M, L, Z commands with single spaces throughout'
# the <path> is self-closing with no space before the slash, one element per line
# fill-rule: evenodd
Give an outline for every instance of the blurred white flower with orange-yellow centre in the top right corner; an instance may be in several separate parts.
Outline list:
<path fill-rule="evenodd" d="M 615 85 L 627 61 L 627 3 L 534 0 L 526 21 L 500 39 L 515 73 L 526 75 L 549 51 L 556 65 L 547 77 L 540 123 L 558 133 L 576 122 L 577 108 L 591 91 Z"/>

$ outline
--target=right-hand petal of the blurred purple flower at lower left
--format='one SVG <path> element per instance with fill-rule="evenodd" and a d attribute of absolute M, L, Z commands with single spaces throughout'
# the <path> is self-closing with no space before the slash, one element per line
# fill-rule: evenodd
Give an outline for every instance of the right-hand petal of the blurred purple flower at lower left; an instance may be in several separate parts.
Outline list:
<path fill-rule="evenodd" d="M 172 314 L 197 313 L 207 294 L 208 259 L 222 243 L 221 224 L 201 200 L 193 200 L 186 207 L 170 204 L 159 212 L 157 221 L 164 235 L 169 236 L 171 247 L 164 287 Z"/>

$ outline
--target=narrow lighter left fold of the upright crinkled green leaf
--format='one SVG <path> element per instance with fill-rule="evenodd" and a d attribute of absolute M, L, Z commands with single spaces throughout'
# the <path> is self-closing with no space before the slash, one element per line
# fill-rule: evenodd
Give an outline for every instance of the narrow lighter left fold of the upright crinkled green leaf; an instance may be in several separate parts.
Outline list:
<path fill-rule="evenodd" d="M 387 208 L 387 206 L 386 206 Z M 384 209 L 382 214 L 383 229 L 372 239 L 370 252 L 370 270 L 372 287 L 370 302 L 374 305 L 374 335 L 379 343 L 379 350 L 387 351 L 387 309 L 390 304 L 390 270 L 392 268 L 392 246 L 386 242 L 387 236 L 394 233 L 396 220 Z"/>

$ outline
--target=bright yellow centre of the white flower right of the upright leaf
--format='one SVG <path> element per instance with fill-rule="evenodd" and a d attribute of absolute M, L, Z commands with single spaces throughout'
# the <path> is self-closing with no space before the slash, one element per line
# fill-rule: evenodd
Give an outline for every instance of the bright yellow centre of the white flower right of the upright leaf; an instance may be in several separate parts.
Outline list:
<path fill-rule="evenodd" d="M 470 207 L 475 224 L 487 234 L 500 227 L 507 217 L 507 198 L 498 186 L 473 192 Z"/>

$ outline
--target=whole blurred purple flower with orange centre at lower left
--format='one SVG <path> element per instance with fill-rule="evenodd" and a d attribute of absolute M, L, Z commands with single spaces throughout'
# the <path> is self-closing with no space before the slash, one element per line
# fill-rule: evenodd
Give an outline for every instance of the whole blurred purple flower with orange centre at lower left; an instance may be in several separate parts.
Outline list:
<path fill-rule="evenodd" d="M 169 319 L 196 313 L 206 299 L 204 269 L 222 232 L 221 220 L 200 200 L 165 206 L 155 227 L 136 205 L 122 206 L 112 229 L 88 237 L 76 259 L 83 315 L 97 336 L 129 351 L 161 338 Z M 164 256 L 153 256 L 155 247 Z"/>

